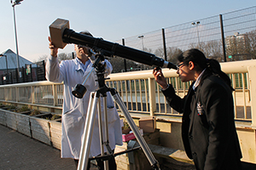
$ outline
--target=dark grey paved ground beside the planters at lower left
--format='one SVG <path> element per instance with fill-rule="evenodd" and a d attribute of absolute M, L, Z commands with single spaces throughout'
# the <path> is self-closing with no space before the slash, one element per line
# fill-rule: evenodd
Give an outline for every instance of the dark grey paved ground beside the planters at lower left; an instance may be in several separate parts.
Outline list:
<path fill-rule="evenodd" d="M 61 159 L 60 150 L 0 125 L 0 169 L 75 170 L 76 167 L 73 159 Z"/>

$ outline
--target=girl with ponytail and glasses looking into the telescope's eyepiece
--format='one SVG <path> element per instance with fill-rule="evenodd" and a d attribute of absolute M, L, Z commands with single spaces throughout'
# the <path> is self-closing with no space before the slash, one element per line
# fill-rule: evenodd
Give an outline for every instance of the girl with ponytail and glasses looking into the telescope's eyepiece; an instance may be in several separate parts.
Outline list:
<path fill-rule="evenodd" d="M 162 71 L 155 68 L 153 74 L 168 104 L 183 113 L 182 138 L 187 156 L 197 170 L 241 170 L 230 77 L 221 71 L 217 60 L 207 59 L 195 48 L 183 52 L 177 60 L 181 81 L 193 81 L 184 98 L 175 94 Z"/>

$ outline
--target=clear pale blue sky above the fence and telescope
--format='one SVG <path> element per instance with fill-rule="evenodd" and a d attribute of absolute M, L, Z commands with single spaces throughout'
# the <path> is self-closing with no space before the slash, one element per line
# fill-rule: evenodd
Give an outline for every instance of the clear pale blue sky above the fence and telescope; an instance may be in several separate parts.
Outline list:
<path fill-rule="evenodd" d="M 69 20 L 73 31 L 90 31 L 109 42 L 255 6 L 255 0 L 24 0 L 15 6 L 20 56 L 38 61 L 49 55 L 49 25 Z M 0 54 L 16 53 L 14 10 L 0 1 Z M 73 51 L 73 44 L 59 54 Z"/>

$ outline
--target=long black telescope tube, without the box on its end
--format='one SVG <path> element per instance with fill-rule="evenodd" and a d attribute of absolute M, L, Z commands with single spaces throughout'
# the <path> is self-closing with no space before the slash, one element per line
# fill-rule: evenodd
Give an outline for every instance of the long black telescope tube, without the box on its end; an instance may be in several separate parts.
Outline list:
<path fill-rule="evenodd" d="M 144 65 L 159 66 L 177 70 L 176 65 L 166 61 L 165 59 L 156 57 L 154 54 L 150 54 L 135 48 L 125 47 L 119 43 L 108 42 L 102 38 L 80 34 L 68 28 L 63 31 L 62 41 L 66 43 L 84 45 L 89 48 L 101 48 L 108 51 L 110 54 L 117 55 L 125 59 L 131 59 Z"/>

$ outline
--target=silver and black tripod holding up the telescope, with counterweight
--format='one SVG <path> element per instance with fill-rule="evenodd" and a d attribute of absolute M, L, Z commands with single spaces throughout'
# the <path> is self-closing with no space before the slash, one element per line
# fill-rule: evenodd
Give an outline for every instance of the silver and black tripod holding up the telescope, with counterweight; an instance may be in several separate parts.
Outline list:
<path fill-rule="evenodd" d="M 97 76 L 97 82 L 99 84 L 99 89 L 96 90 L 96 92 L 90 93 L 90 100 L 89 100 L 89 107 L 88 107 L 88 112 L 87 112 L 87 117 L 84 125 L 84 139 L 83 143 L 81 145 L 81 150 L 80 150 L 80 157 L 79 157 L 79 166 L 78 170 L 84 170 L 87 168 L 87 164 L 89 159 L 102 159 L 104 161 L 104 169 L 108 170 L 108 160 L 110 157 L 113 156 L 118 156 L 121 154 L 124 154 L 127 152 L 125 150 L 124 152 L 119 152 L 116 154 L 113 154 L 113 151 L 111 150 L 108 142 L 108 114 L 107 114 L 107 92 L 110 92 L 110 94 L 113 96 L 113 99 L 115 102 L 119 105 L 120 110 L 123 112 L 126 121 L 128 122 L 129 126 L 131 127 L 132 132 L 134 133 L 138 144 L 142 148 L 145 156 L 147 157 L 151 167 L 153 169 L 158 170 L 160 169 L 158 161 L 154 158 L 153 153 L 148 147 L 148 144 L 146 141 L 143 139 L 141 133 L 139 133 L 137 126 L 135 122 L 133 122 L 131 115 L 129 114 L 129 111 L 126 109 L 125 104 L 121 100 L 119 94 L 116 92 L 114 88 L 108 88 L 105 83 L 105 77 L 104 77 L 104 72 L 105 72 L 105 65 L 102 65 L 101 61 L 104 60 L 104 56 L 102 54 L 96 54 L 96 61 L 93 65 L 94 68 L 96 68 L 96 76 Z M 93 69 L 93 68 L 92 68 Z M 91 73 L 92 71 L 90 71 Z M 89 77 L 90 75 L 88 75 Z M 85 78 L 84 83 L 86 82 L 87 78 Z M 83 83 L 83 84 L 84 84 Z M 86 88 L 82 84 L 77 84 L 77 86 L 73 90 L 73 95 L 78 97 L 78 98 L 83 98 L 84 94 L 86 92 Z M 104 137 L 103 138 L 103 133 L 102 133 L 102 113 L 101 113 L 101 100 L 99 98 L 103 98 L 103 106 L 104 106 L 104 117 L 105 117 L 105 122 L 104 124 Z M 99 121 L 99 133 L 100 133 L 100 141 L 102 142 L 101 145 L 101 156 L 96 156 L 93 158 L 89 158 L 90 154 L 90 144 L 91 144 L 91 138 L 92 138 L 92 132 L 94 128 L 94 122 L 96 119 L 96 109 L 98 110 L 98 121 Z M 108 155 L 104 156 L 104 145 L 107 149 Z M 133 149 L 134 150 L 134 149 Z M 132 150 L 128 150 L 132 151 Z"/>

